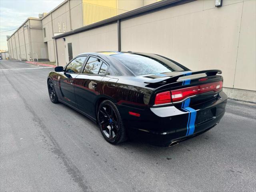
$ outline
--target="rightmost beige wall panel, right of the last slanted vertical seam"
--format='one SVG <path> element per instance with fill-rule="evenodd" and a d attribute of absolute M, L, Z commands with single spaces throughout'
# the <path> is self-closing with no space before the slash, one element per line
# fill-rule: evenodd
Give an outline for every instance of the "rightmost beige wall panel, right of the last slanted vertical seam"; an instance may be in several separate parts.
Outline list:
<path fill-rule="evenodd" d="M 256 1 L 245 1 L 238 44 L 234 88 L 256 87 Z M 254 16 L 254 18 L 253 18 Z"/>

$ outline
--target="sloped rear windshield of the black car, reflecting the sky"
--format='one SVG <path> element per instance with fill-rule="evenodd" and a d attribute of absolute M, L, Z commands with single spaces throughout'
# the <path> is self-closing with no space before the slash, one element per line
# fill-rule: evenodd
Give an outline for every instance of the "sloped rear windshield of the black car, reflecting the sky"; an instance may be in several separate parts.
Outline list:
<path fill-rule="evenodd" d="M 171 60 L 154 54 L 115 54 L 112 57 L 124 64 L 136 75 L 184 70 Z"/>

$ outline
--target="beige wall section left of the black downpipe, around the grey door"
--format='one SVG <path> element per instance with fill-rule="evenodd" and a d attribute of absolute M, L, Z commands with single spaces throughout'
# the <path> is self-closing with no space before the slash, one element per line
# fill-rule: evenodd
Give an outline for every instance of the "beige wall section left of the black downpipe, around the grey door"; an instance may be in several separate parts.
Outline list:
<path fill-rule="evenodd" d="M 56 40 L 58 65 L 65 66 L 68 63 L 68 43 L 72 43 L 73 57 L 83 52 L 98 52 L 117 50 L 117 24 L 110 24 L 95 28 L 72 36 L 66 36 Z"/>

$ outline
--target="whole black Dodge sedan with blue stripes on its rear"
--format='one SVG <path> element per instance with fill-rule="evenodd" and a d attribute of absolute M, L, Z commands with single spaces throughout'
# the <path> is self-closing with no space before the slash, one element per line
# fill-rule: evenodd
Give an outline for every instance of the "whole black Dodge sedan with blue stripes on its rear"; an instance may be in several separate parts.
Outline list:
<path fill-rule="evenodd" d="M 112 144 L 136 136 L 173 146 L 220 122 L 227 96 L 219 74 L 158 54 L 90 52 L 56 67 L 47 84 L 53 103 L 90 118 Z"/>

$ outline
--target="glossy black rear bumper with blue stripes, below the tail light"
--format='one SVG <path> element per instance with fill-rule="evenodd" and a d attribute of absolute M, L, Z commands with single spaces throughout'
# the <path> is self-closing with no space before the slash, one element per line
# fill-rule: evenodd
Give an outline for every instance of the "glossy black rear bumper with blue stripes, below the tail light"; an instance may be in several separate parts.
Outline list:
<path fill-rule="evenodd" d="M 210 130 L 224 116 L 227 96 L 189 107 L 176 106 L 150 108 L 150 111 L 135 111 L 140 118 L 125 119 L 128 134 L 159 146 L 169 146 L 173 141 L 182 141 Z"/>

